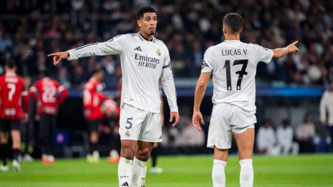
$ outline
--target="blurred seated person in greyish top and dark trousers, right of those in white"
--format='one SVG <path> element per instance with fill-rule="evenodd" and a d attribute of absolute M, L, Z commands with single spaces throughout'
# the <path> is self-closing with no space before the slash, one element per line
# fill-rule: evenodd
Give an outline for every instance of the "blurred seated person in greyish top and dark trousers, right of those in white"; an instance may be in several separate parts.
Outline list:
<path fill-rule="evenodd" d="M 296 131 L 296 138 L 300 145 L 300 153 L 314 152 L 312 140 L 315 133 L 311 114 L 306 113 L 304 116 L 304 122 L 297 127 Z"/>

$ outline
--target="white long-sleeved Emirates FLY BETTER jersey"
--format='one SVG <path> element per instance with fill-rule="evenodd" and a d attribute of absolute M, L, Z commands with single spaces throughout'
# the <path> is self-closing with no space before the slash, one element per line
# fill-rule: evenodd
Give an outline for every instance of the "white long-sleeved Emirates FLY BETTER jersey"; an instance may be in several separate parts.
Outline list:
<path fill-rule="evenodd" d="M 144 39 L 140 33 L 116 36 L 106 42 L 91 43 L 69 50 L 68 60 L 85 56 L 119 54 L 123 72 L 121 103 L 159 113 L 158 81 L 167 95 L 171 111 L 178 111 L 174 77 L 169 50 L 153 38 Z"/>

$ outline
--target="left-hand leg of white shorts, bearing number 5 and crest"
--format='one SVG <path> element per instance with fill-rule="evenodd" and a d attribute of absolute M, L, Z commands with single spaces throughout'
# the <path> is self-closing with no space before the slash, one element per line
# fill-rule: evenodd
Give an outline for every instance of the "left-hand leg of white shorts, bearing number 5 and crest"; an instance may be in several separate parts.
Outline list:
<path fill-rule="evenodd" d="M 120 111 L 119 134 L 121 140 L 138 140 L 146 111 L 123 104 Z"/>

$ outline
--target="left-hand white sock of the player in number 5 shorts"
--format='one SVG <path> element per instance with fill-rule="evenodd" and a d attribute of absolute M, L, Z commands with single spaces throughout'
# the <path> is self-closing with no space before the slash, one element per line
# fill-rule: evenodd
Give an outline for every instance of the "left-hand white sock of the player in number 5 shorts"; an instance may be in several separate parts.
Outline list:
<path fill-rule="evenodd" d="M 119 186 L 131 186 L 133 176 L 133 160 L 121 157 L 118 164 Z"/>

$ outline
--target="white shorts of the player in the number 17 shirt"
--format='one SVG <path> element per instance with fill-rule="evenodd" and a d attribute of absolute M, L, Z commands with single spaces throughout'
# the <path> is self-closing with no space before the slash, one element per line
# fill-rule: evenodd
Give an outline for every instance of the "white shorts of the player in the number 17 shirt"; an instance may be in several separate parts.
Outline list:
<path fill-rule="evenodd" d="M 254 128 L 257 122 L 255 114 L 250 114 L 244 109 L 229 104 L 214 104 L 208 130 L 207 147 L 230 149 L 233 133 L 243 133 L 249 128 Z"/>

